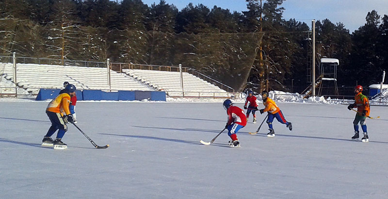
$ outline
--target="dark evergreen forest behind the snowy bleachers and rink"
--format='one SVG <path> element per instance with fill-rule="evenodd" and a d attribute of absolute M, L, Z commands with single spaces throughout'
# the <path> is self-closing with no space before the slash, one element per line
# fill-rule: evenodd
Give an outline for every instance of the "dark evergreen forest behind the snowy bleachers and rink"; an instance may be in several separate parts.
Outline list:
<path fill-rule="evenodd" d="M 164 0 L 1 0 L 0 55 L 182 64 L 238 91 L 301 92 L 311 30 L 282 17 L 283 1 L 246 0 L 248 11 L 231 13 L 191 3 L 179 11 Z M 341 22 L 316 21 L 316 64 L 339 59 L 339 88 L 380 83 L 388 69 L 388 16 L 365 15 L 354 33 Z"/>

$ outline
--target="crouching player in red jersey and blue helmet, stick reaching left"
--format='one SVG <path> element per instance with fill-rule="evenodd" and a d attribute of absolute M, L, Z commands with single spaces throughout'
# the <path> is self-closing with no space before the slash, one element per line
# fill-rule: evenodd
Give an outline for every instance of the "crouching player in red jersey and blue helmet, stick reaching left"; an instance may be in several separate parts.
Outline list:
<path fill-rule="evenodd" d="M 223 105 L 228 116 L 225 128 L 228 130 L 227 134 L 232 139 L 229 141 L 229 146 L 240 147 L 240 142 L 236 133 L 246 125 L 244 111 L 237 106 L 233 106 L 230 99 L 226 99 Z"/>

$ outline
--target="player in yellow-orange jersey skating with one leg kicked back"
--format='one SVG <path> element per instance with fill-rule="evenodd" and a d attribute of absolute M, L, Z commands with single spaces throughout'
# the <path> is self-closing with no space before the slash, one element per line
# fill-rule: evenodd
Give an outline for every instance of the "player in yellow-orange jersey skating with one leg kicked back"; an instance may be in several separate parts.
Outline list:
<path fill-rule="evenodd" d="M 291 122 L 286 121 L 286 119 L 283 116 L 282 111 L 280 111 L 279 107 L 276 105 L 275 101 L 270 99 L 268 97 L 268 92 L 263 91 L 261 93 L 261 97 L 263 99 L 263 104 L 265 106 L 264 109 L 260 110 L 260 114 L 263 114 L 264 112 L 268 112 L 268 119 L 267 119 L 267 124 L 270 130 L 269 133 L 267 133 L 268 137 L 274 137 L 275 136 L 275 130 L 272 126 L 272 121 L 274 121 L 274 118 L 277 119 L 282 124 L 285 124 L 289 130 L 292 130 L 292 124 Z"/>

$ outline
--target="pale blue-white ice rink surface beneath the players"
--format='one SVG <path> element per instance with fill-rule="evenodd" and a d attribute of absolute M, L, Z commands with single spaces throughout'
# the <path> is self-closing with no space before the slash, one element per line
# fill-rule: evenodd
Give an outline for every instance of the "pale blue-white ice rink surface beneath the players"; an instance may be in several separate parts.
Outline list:
<path fill-rule="evenodd" d="M 369 143 L 351 141 L 355 112 L 345 105 L 278 102 L 293 124 L 264 119 L 229 148 L 222 99 L 193 103 L 77 103 L 67 150 L 40 146 L 48 101 L 0 99 L 1 199 L 385 199 L 388 198 L 388 107 L 372 106 Z M 242 107 L 243 99 L 235 100 Z M 259 108 L 262 108 L 262 104 Z"/>

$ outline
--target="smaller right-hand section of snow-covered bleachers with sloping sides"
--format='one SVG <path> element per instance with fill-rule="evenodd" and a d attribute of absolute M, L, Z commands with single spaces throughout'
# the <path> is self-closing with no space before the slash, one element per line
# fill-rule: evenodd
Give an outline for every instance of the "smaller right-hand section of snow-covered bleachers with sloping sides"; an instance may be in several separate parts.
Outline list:
<path fill-rule="evenodd" d="M 123 69 L 123 72 L 157 90 L 165 91 L 170 97 L 182 96 L 180 72 L 141 69 Z M 182 75 L 184 97 L 230 97 L 225 90 L 190 73 L 183 72 Z"/>

